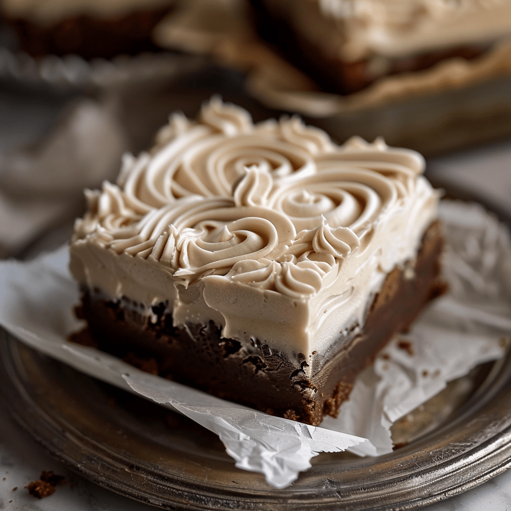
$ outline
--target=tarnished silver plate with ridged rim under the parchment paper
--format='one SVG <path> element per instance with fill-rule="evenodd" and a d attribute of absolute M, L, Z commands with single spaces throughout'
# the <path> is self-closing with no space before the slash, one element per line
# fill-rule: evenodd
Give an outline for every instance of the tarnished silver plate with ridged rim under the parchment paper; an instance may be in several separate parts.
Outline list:
<path fill-rule="evenodd" d="M 0 391 L 18 423 L 56 458 L 107 489 L 165 509 L 411 509 L 511 466 L 510 353 L 394 425 L 394 442 L 403 447 L 378 458 L 320 454 L 284 490 L 237 469 L 218 437 L 189 419 L 1 330 Z"/>

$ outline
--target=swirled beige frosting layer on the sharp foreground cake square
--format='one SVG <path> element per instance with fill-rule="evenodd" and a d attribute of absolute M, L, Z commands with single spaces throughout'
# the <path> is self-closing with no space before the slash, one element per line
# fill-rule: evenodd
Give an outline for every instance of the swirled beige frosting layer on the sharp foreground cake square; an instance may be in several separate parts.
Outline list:
<path fill-rule="evenodd" d="M 86 193 L 72 272 L 148 314 L 166 303 L 176 326 L 212 319 L 246 344 L 324 353 L 415 257 L 438 201 L 423 170 L 382 140 L 338 146 L 298 118 L 253 124 L 213 98 Z"/>

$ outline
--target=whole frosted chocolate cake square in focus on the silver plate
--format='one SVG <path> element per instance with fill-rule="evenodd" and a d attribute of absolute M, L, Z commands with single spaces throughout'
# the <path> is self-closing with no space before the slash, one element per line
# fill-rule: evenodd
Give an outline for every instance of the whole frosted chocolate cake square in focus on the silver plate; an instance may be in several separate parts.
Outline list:
<path fill-rule="evenodd" d="M 173 114 L 71 242 L 100 349 L 317 425 L 443 290 L 438 193 L 414 151 L 334 144 L 214 98 Z"/>

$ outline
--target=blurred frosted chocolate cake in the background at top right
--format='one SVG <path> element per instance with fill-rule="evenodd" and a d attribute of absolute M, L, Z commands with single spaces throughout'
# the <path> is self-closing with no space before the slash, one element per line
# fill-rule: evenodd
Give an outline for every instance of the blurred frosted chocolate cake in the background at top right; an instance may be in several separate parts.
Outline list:
<path fill-rule="evenodd" d="M 264 39 L 323 90 L 471 60 L 511 38 L 509 0 L 250 0 Z"/>

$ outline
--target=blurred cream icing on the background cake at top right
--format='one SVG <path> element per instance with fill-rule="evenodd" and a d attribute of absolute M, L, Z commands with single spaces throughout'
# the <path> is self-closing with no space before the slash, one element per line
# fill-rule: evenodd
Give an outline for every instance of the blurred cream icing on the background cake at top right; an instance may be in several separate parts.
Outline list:
<path fill-rule="evenodd" d="M 332 55 L 398 58 L 511 35 L 509 0 L 272 0 L 277 16 Z"/>

